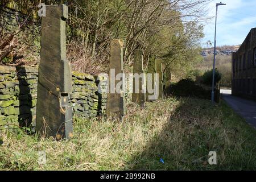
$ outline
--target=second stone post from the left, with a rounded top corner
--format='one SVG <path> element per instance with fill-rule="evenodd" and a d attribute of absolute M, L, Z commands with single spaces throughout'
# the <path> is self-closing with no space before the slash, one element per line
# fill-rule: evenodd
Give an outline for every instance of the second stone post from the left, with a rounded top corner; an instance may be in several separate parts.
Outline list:
<path fill-rule="evenodd" d="M 117 78 L 120 73 L 123 73 L 123 42 L 122 40 L 115 39 L 110 42 L 110 63 L 109 63 L 109 93 L 107 103 L 107 117 L 115 115 L 119 119 L 122 119 L 125 114 L 125 96 L 123 93 L 123 87 L 125 86 L 125 78 Z M 120 84 L 120 82 L 122 84 Z M 119 88 L 118 88 L 119 85 Z M 115 89 L 117 88 L 117 89 Z M 118 91 L 118 89 L 120 89 Z M 119 92 L 119 93 L 118 93 Z"/>

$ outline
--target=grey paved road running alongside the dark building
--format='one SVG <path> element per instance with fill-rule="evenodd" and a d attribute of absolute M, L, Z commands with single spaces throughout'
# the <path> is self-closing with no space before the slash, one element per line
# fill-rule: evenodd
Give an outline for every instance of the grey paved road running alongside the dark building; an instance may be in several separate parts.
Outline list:
<path fill-rule="evenodd" d="M 246 119 L 249 125 L 256 129 L 256 102 L 231 95 L 231 90 L 220 90 L 222 98 L 241 117 Z"/>

